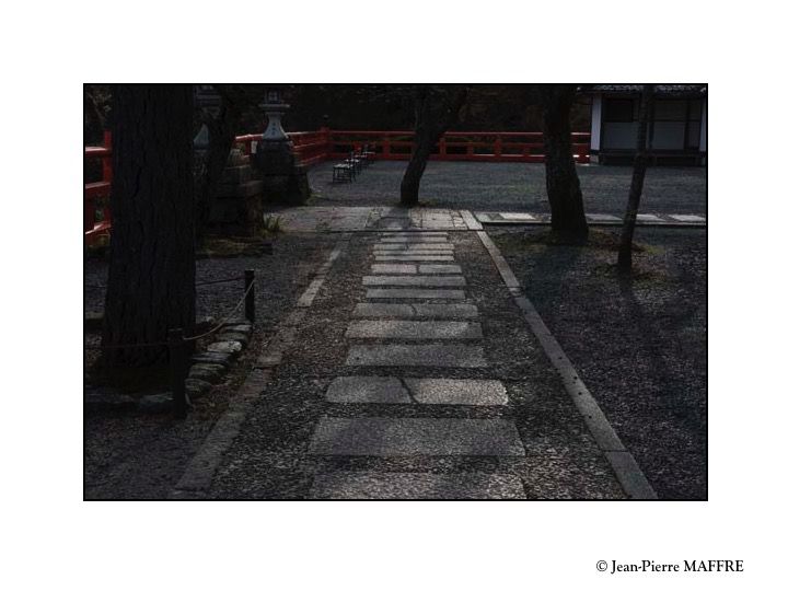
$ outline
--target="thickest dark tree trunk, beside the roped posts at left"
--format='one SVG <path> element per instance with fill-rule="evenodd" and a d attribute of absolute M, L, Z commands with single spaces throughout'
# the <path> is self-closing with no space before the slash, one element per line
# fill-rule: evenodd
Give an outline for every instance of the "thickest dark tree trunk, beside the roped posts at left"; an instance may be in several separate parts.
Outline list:
<path fill-rule="evenodd" d="M 167 329 L 195 325 L 192 86 L 118 84 L 113 92 L 114 181 L 105 367 L 164 359 Z"/>

